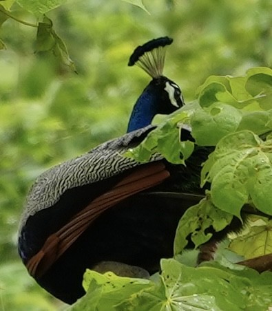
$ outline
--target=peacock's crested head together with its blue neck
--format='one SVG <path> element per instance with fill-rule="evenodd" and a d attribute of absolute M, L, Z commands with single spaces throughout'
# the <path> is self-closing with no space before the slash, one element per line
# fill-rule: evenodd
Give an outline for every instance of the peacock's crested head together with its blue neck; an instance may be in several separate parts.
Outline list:
<path fill-rule="evenodd" d="M 153 80 L 140 95 L 129 119 L 127 132 L 151 124 L 156 114 L 171 114 L 183 105 L 180 88 L 163 76 L 165 47 L 172 43 L 168 37 L 153 39 L 136 50 L 129 58 L 129 66 L 134 64 L 144 69 Z"/>

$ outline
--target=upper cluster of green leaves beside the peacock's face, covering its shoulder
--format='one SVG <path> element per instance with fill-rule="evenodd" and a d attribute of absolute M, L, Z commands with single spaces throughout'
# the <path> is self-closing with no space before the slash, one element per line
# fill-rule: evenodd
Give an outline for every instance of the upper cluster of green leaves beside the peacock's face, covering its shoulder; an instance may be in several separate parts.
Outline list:
<path fill-rule="evenodd" d="M 257 135 L 272 131 L 272 69 L 255 67 L 239 77 L 211 76 L 198 93 L 198 102 L 171 115 L 127 156 L 146 162 L 158 152 L 169 162 L 171 158 L 174 163 L 183 162 L 191 156 L 193 145 L 188 141 L 185 144 L 177 136 L 188 125 L 199 146 L 216 146 L 224 136 L 242 129 Z M 171 147 L 173 142 L 176 155 Z"/>

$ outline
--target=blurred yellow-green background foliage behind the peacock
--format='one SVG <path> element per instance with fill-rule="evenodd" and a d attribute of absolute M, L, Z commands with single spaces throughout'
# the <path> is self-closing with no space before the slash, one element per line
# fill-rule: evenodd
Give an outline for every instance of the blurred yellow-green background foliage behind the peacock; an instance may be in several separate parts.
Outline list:
<path fill-rule="evenodd" d="M 149 77 L 127 67 L 134 48 L 171 36 L 165 75 L 185 100 L 210 75 L 236 75 L 272 64 L 271 0 L 78 0 L 48 17 L 78 74 L 48 53 L 35 54 L 36 29 L 8 19 L 0 37 L 0 310 L 61 310 L 28 276 L 17 255 L 25 195 L 54 164 L 125 133 Z M 20 19 L 36 22 L 17 8 Z"/>

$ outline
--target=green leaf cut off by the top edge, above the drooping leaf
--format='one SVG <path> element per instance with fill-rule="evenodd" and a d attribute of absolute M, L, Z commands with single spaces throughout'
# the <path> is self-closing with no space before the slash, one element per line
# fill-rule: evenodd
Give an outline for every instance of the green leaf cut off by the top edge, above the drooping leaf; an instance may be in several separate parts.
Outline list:
<path fill-rule="evenodd" d="M 16 2 L 25 10 L 39 16 L 61 6 L 67 0 L 16 0 Z"/>

